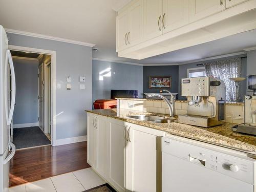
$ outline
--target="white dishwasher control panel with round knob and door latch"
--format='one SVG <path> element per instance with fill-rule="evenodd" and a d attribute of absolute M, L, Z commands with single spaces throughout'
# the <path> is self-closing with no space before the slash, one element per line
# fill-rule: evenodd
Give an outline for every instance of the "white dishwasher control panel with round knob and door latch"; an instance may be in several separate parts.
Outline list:
<path fill-rule="evenodd" d="M 162 137 L 162 153 L 176 156 L 212 171 L 253 184 L 253 169 L 256 160 L 236 157 L 208 148 Z"/>

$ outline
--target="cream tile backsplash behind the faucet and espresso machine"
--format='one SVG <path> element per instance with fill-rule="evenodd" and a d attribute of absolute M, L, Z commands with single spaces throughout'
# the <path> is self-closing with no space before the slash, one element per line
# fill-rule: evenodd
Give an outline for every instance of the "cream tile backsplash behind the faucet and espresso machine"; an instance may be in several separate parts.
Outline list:
<path fill-rule="evenodd" d="M 118 99 L 119 109 L 128 109 L 141 112 L 169 114 L 169 109 L 163 100 L 155 99 Z M 175 115 L 187 113 L 187 101 L 176 100 L 174 106 Z M 243 123 L 244 121 L 244 106 L 240 102 L 227 102 L 225 104 L 225 121 L 230 123 Z"/>

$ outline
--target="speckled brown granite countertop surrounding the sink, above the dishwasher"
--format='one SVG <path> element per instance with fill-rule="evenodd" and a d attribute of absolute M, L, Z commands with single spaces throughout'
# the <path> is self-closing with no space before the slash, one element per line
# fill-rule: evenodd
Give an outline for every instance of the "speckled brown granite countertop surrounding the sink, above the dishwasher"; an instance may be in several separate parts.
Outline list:
<path fill-rule="evenodd" d="M 241 134 L 237 132 L 233 132 L 231 126 L 232 123 L 224 123 L 219 126 L 214 126 L 210 128 L 192 126 L 181 123 L 153 123 L 149 121 L 143 121 L 138 119 L 132 119 L 129 117 L 125 117 L 126 115 L 135 115 L 142 114 L 139 111 L 131 111 L 131 110 L 121 110 L 117 111 L 117 109 L 105 109 L 105 110 L 86 110 L 86 112 L 94 113 L 97 115 L 103 115 L 106 117 L 111 117 L 115 119 L 119 119 L 122 121 L 151 127 L 153 129 L 165 131 L 168 134 L 187 137 L 190 139 L 195 139 L 207 143 L 212 143 L 216 145 L 221 145 L 224 147 L 232 148 L 234 150 L 243 151 L 249 154 L 256 155 L 256 137 L 246 134 Z M 122 114 L 122 115 L 120 115 Z M 153 114 L 154 113 L 143 113 L 144 115 Z M 155 114 L 163 117 L 169 117 L 164 114 Z M 174 119 L 178 119 L 178 117 L 174 117 Z"/>

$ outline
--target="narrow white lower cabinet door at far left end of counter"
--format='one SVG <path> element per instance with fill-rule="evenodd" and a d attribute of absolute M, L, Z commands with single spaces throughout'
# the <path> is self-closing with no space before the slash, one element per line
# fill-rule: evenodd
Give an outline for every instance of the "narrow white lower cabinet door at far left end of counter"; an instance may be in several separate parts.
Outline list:
<path fill-rule="evenodd" d="M 95 115 L 87 114 L 87 162 L 93 167 L 95 164 Z"/>

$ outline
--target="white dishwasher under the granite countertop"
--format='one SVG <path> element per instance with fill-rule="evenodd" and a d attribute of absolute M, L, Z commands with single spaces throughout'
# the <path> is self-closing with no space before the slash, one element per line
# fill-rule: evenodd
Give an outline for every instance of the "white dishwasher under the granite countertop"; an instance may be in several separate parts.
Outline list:
<path fill-rule="evenodd" d="M 255 192 L 256 160 L 191 139 L 162 137 L 162 192 Z"/>

